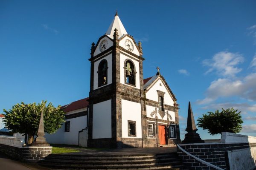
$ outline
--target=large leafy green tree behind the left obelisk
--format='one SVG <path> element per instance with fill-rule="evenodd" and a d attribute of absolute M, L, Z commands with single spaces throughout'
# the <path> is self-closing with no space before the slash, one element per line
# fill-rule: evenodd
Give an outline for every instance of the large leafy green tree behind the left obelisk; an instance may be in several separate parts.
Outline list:
<path fill-rule="evenodd" d="M 32 143 L 37 133 L 40 122 L 41 112 L 44 113 L 44 131 L 46 133 L 54 133 L 61 127 L 61 123 L 65 122 L 65 113 L 59 105 L 55 108 L 52 103 L 46 106 L 47 101 L 41 103 L 21 104 L 17 103 L 12 106 L 9 111 L 3 110 L 6 115 L 3 120 L 7 129 L 13 133 L 28 134 L 29 141 Z"/>

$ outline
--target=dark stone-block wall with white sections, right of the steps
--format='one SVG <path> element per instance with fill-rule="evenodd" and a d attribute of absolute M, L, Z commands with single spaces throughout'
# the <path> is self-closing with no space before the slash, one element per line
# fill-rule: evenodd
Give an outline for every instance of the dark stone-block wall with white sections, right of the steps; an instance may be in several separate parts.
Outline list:
<path fill-rule="evenodd" d="M 224 170 L 253 170 L 256 168 L 256 137 L 224 132 L 220 142 L 180 144 L 186 152 Z M 209 165 L 183 153 L 178 156 L 191 170 L 211 170 Z"/>

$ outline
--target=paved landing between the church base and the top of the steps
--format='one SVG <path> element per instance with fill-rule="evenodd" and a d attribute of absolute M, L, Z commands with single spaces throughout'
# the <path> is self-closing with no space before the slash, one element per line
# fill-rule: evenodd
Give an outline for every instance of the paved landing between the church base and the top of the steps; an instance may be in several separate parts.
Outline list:
<path fill-rule="evenodd" d="M 72 148 L 75 149 L 75 148 Z M 78 148 L 76 148 L 78 149 Z M 76 153 L 63 153 L 67 155 L 142 155 L 142 154 L 157 154 L 176 152 L 176 147 L 153 147 L 153 148 L 122 148 L 122 149 L 103 149 L 103 150 L 88 150 L 79 149 Z"/>

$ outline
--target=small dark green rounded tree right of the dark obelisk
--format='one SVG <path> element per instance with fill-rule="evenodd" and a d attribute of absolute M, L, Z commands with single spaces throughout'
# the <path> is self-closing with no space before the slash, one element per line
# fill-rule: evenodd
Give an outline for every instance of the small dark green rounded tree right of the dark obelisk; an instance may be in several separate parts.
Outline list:
<path fill-rule="evenodd" d="M 198 118 L 198 127 L 207 129 L 211 135 L 215 135 L 221 132 L 239 133 L 242 129 L 242 116 L 241 111 L 234 110 L 233 108 L 222 109 L 209 114 L 203 114 L 202 118 Z"/>

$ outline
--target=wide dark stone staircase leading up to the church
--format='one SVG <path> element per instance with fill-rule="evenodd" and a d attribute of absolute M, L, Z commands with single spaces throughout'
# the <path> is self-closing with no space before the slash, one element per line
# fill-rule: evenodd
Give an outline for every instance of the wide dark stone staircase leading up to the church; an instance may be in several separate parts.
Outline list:
<path fill-rule="evenodd" d="M 50 154 L 38 162 L 41 166 L 80 170 L 189 170 L 177 153 L 137 155 Z"/>

